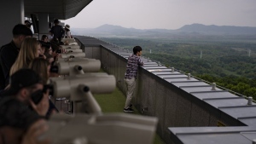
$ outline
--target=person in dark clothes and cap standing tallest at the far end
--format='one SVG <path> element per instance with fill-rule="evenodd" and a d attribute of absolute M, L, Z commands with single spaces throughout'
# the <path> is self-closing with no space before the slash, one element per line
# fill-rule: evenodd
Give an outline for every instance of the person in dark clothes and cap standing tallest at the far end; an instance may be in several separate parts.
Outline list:
<path fill-rule="evenodd" d="M 53 36 L 54 39 L 56 38 L 59 40 L 59 42 L 61 42 L 61 37 L 63 37 L 65 31 L 63 30 L 62 26 L 59 25 L 60 23 L 59 20 L 55 19 L 54 23 L 55 23 L 55 26 L 51 27 L 49 34 Z"/>

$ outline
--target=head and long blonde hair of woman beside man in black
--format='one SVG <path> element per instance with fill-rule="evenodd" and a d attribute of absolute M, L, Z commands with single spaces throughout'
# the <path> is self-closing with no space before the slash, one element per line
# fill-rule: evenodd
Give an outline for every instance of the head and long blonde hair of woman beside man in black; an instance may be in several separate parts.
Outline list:
<path fill-rule="evenodd" d="M 21 68 L 28 68 L 30 62 L 39 56 L 40 49 L 41 43 L 39 43 L 38 40 L 32 37 L 26 37 L 21 44 L 19 55 L 14 65 L 11 67 L 9 75 L 11 76 Z"/>

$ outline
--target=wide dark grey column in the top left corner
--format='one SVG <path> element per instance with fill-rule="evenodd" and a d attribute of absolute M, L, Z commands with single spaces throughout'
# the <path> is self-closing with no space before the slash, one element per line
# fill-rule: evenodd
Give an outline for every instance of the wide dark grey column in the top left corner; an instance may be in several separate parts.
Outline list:
<path fill-rule="evenodd" d="M 0 47 L 10 43 L 15 25 L 24 24 L 24 0 L 8 0 L 0 2 Z"/>

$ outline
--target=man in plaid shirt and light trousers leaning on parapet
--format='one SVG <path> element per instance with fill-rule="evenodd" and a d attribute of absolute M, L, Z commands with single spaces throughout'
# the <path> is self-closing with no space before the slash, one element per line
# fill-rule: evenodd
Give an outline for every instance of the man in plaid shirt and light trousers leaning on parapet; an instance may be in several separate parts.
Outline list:
<path fill-rule="evenodd" d="M 141 55 L 143 54 L 143 49 L 140 46 L 133 48 L 133 54 L 129 56 L 125 72 L 125 83 L 127 86 L 126 101 L 124 112 L 133 112 L 131 108 L 131 99 L 133 91 L 136 87 L 137 70 L 138 66 L 143 66 L 143 61 L 141 60 Z"/>

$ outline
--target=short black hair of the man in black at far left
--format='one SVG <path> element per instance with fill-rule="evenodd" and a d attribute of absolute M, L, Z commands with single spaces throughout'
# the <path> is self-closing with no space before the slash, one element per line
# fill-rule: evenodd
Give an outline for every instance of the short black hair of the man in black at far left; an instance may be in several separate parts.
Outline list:
<path fill-rule="evenodd" d="M 32 34 L 32 31 L 29 28 L 27 28 L 25 25 L 18 24 L 13 29 L 13 36 L 17 37 L 20 35 L 32 37 L 33 34 Z"/>

